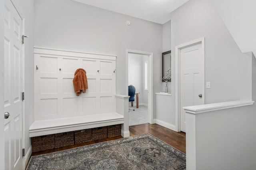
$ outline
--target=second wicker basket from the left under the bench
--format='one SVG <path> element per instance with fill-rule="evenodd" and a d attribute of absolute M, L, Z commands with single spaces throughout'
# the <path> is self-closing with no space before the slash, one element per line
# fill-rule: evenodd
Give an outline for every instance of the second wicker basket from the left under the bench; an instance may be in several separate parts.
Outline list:
<path fill-rule="evenodd" d="M 74 132 L 57 133 L 55 136 L 55 148 L 74 144 Z"/>

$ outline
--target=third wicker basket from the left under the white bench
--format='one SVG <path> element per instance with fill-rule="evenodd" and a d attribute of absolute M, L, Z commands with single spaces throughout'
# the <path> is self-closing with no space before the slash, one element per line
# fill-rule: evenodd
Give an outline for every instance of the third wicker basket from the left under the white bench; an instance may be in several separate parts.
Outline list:
<path fill-rule="evenodd" d="M 92 141 L 92 129 L 76 130 L 74 131 L 75 144 Z"/>

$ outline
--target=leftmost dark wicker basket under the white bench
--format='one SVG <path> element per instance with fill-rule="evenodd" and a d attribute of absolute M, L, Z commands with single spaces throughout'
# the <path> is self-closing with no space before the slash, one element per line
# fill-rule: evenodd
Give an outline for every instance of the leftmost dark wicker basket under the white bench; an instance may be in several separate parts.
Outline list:
<path fill-rule="evenodd" d="M 54 148 L 54 134 L 32 137 L 32 152 Z"/>

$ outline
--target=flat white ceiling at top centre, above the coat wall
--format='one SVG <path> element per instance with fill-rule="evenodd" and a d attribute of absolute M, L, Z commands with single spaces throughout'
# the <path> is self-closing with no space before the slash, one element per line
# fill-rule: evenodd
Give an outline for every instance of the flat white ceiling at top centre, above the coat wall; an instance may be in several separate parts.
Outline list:
<path fill-rule="evenodd" d="M 189 0 L 74 0 L 120 14 L 164 24 L 170 14 Z"/>

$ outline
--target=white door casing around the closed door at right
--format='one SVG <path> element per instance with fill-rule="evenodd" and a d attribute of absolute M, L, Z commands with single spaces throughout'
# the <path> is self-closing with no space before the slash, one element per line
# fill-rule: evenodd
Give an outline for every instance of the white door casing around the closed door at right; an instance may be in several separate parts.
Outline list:
<path fill-rule="evenodd" d="M 181 83 L 180 83 L 180 50 L 182 48 L 186 48 L 188 46 L 191 45 L 195 45 L 198 43 L 202 43 L 202 54 L 203 54 L 203 65 L 202 65 L 202 69 L 203 69 L 203 73 L 202 73 L 202 77 L 204 77 L 204 37 L 203 38 L 199 38 L 197 40 L 191 41 L 191 42 L 187 42 L 181 45 L 177 45 L 175 47 L 175 77 L 176 77 L 176 81 L 175 81 L 175 124 L 176 124 L 176 132 L 180 132 L 180 114 L 181 114 Z M 203 81 L 204 82 L 204 81 Z M 204 101 L 204 83 L 202 85 L 203 88 L 203 93 L 202 93 L 202 100 Z"/>

